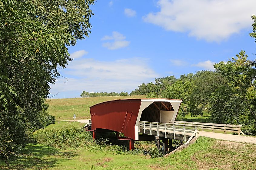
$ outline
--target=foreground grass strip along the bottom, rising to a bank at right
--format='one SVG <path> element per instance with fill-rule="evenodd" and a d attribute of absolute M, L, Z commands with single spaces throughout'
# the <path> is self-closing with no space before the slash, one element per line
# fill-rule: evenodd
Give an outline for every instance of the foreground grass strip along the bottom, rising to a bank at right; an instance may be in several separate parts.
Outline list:
<path fill-rule="evenodd" d="M 256 145 L 199 137 L 168 157 L 117 155 L 81 149 L 60 150 L 29 144 L 25 157 L 0 161 L 0 169 L 256 169 Z"/>

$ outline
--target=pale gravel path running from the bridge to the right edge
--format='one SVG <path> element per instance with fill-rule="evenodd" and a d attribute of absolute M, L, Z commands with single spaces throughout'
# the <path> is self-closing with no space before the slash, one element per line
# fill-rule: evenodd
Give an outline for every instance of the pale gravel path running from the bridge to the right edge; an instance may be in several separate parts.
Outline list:
<path fill-rule="evenodd" d="M 231 135 L 231 134 L 224 134 L 224 133 L 199 131 L 199 136 L 205 136 L 205 137 L 221 139 L 221 140 L 229 140 L 229 141 L 235 141 L 235 142 L 256 144 L 256 137 L 243 136 L 243 135 Z"/>

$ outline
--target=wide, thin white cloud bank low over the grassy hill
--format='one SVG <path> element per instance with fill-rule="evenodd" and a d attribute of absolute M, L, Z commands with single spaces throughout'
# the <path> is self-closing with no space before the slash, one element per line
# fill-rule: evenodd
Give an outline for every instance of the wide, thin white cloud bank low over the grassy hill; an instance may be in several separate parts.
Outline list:
<path fill-rule="evenodd" d="M 84 90 L 96 92 L 134 90 L 142 82 L 153 81 L 159 76 L 148 67 L 147 61 L 148 59 L 143 58 L 115 61 L 73 60 L 67 68 L 61 70 L 61 74 L 73 78 L 68 79 L 68 82 L 62 77 L 58 78 L 58 82 L 51 85 L 51 94 L 58 92 L 67 94 L 71 91 L 81 93 Z"/>

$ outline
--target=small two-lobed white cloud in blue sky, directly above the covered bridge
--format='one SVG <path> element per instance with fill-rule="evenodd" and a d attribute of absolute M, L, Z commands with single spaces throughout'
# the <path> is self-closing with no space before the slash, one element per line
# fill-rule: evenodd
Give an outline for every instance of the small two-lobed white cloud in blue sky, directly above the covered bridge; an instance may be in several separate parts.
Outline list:
<path fill-rule="evenodd" d="M 102 43 L 102 47 L 106 47 L 108 50 L 116 50 L 129 46 L 130 41 L 125 40 L 125 36 L 117 31 L 112 32 L 112 36 L 105 35 L 101 40 L 114 40 L 106 43 Z"/>

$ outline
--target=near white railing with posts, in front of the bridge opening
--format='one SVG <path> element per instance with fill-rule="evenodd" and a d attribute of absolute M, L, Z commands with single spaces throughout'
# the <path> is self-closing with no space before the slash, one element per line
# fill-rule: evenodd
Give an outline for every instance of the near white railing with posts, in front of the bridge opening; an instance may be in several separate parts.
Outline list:
<path fill-rule="evenodd" d="M 183 135 L 185 142 L 186 136 L 190 136 L 188 140 L 190 141 L 194 136 L 197 136 L 198 132 L 197 127 L 195 125 L 147 121 L 140 121 L 139 130 L 140 129 L 143 129 L 144 133 L 146 133 L 146 131 L 149 131 L 150 135 L 152 135 L 152 131 L 156 131 L 157 136 L 159 136 L 159 133 L 165 133 L 165 138 L 167 137 L 167 133 L 173 133 L 174 139 L 176 139 L 176 135 Z"/>

